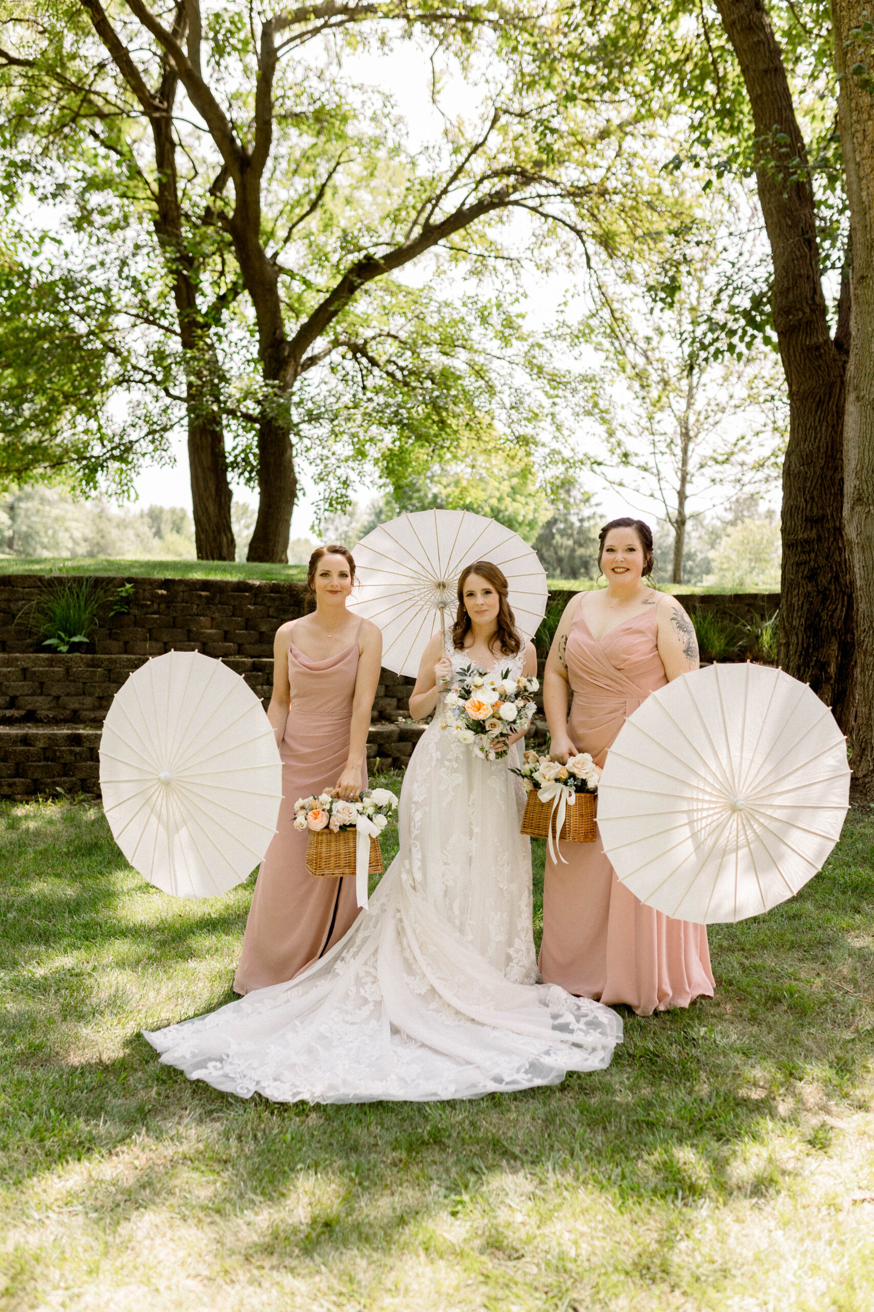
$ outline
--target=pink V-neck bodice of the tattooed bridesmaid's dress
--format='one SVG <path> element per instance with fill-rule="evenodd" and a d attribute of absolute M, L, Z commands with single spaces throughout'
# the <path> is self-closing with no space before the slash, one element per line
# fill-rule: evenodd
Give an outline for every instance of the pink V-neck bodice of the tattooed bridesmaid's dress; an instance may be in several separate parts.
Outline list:
<path fill-rule="evenodd" d="M 658 604 L 595 638 L 578 607 L 567 634 L 567 678 L 574 690 L 569 729 L 577 748 L 603 765 L 626 718 L 667 674 L 659 656 Z"/>

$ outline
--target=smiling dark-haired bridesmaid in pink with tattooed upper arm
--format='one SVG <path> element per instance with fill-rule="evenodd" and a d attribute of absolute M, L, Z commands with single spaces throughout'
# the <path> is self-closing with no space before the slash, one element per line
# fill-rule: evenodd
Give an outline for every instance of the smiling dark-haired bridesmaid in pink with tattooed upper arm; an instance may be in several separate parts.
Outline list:
<path fill-rule="evenodd" d="M 603 765 L 626 716 L 656 687 L 698 668 L 683 606 L 643 583 L 653 569 L 649 526 L 611 520 L 599 541 L 607 588 L 571 598 L 546 659 L 544 708 L 552 756 L 562 762 L 590 752 Z M 566 866 L 546 859 L 545 983 L 608 1006 L 624 1002 L 638 1015 L 713 997 L 704 925 L 670 920 L 639 903 L 616 878 L 600 838 L 562 842 L 561 854 Z"/>

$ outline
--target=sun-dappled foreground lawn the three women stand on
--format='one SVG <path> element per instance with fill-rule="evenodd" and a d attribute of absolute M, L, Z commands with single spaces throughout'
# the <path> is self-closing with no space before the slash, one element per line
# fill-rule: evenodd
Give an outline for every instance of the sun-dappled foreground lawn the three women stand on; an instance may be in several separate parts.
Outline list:
<path fill-rule="evenodd" d="M 346 1107 L 225 1097 L 139 1034 L 231 998 L 252 883 L 174 901 L 86 804 L 0 833 L 4 1312 L 874 1307 L 869 808 L 608 1071 Z"/>

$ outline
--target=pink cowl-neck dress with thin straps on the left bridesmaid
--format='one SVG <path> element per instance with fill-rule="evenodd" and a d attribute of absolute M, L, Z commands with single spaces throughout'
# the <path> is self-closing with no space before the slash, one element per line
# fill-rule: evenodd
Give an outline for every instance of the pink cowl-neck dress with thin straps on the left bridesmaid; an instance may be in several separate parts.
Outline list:
<path fill-rule="evenodd" d="M 261 862 L 252 896 L 233 980 L 236 993 L 294 979 L 338 943 L 358 916 L 354 876 L 311 875 L 305 866 L 307 830 L 292 828 L 297 798 L 333 787 L 343 771 L 356 674 L 358 634 L 351 647 L 337 656 L 311 660 L 295 647 L 292 625 L 291 707 L 279 744 L 282 803 L 276 833 Z M 362 787 L 367 787 L 367 765 L 362 769 Z"/>

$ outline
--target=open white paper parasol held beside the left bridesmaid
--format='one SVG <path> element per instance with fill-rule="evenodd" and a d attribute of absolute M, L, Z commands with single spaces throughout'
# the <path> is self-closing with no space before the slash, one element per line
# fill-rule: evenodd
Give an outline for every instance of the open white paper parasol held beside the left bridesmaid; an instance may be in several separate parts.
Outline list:
<path fill-rule="evenodd" d="M 238 674 L 199 652 L 168 652 L 113 698 L 100 783 L 134 869 L 177 897 L 212 897 L 267 850 L 282 764 L 263 706 Z"/>

